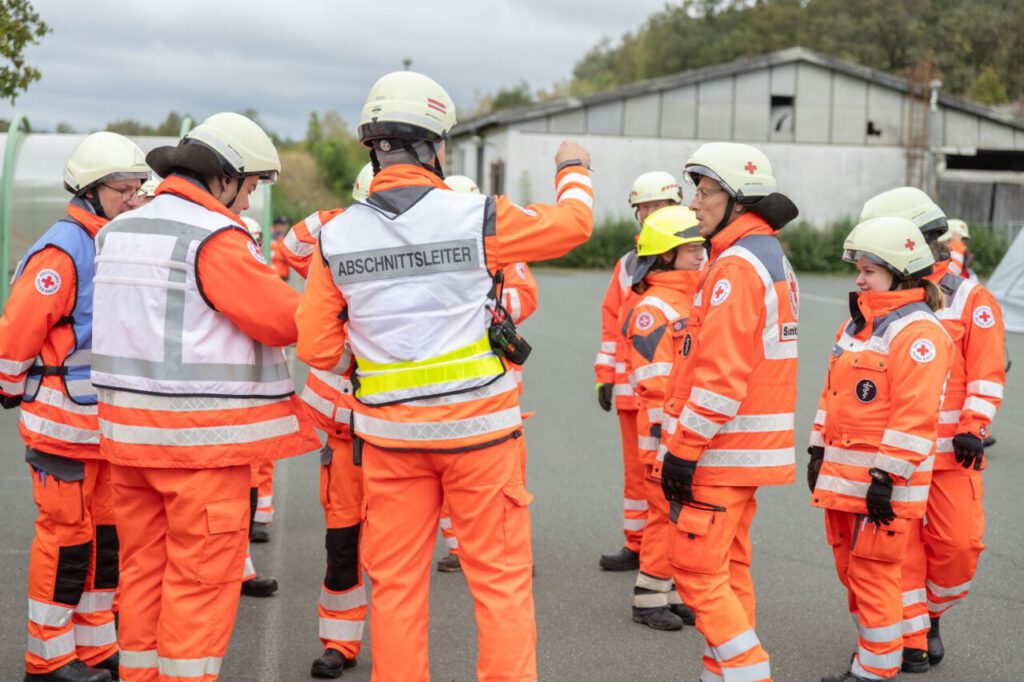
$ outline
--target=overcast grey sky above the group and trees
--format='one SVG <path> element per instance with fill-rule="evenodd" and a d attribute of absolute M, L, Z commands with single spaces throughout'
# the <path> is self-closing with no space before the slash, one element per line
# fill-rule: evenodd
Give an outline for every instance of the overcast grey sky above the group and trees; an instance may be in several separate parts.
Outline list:
<path fill-rule="evenodd" d="M 524 79 L 568 78 L 603 36 L 640 26 L 666 0 L 34 0 L 53 32 L 28 51 L 43 78 L 14 108 L 37 128 L 158 123 L 248 106 L 301 137 L 311 111 L 350 124 L 380 76 L 413 69 L 464 110 Z"/>

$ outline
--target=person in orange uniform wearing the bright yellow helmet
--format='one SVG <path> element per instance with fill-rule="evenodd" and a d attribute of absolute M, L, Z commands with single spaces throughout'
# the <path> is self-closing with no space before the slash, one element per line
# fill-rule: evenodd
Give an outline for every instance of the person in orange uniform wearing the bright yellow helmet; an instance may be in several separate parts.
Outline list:
<path fill-rule="evenodd" d="M 662 492 L 663 406 L 672 361 L 681 349 L 686 322 L 703 265 L 696 215 L 671 206 L 651 213 L 637 241 L 633 292 L 639 297 L 626 321 L 630 383 L 639 402 L 637 449 L 644 465 L 649 513 L 640 545 L 640 571 L 633 588 L 633 621 L 654 630 L 693 625 L 669 565 L 669 503 Z"/>

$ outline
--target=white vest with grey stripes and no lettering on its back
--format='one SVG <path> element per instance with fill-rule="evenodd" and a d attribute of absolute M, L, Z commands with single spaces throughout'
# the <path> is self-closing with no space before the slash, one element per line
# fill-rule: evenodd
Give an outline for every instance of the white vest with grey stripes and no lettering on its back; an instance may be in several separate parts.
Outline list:
<path fill-rule="evenodd" d="M 92 354 L 97 387 L 217 398 L 294 393 L 284 351 L 247 336 L 200 288 L 199 247 L 218 231 L 242 229 L 167 194 L 100 230 Z"/>

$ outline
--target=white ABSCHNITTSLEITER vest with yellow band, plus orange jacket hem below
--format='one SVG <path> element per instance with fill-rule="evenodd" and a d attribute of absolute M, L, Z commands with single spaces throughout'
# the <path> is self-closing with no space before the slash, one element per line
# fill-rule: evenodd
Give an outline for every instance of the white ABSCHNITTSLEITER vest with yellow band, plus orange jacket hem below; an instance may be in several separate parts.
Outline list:
<path fill-rule="evenodd" d="M 399 187 L 354 204 L 321 232 L 347 303 L 352 429 L 378 446 L 471 450 L 522 423 L 515 379 L 487 338 L 493 202 Z"/>

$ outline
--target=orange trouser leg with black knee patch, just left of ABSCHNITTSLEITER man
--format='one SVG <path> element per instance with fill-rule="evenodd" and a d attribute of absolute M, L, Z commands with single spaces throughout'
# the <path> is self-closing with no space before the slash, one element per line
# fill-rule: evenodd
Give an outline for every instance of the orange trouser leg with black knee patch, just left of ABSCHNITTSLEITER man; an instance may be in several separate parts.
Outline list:
<path fill-rule="evenodd" d="M 316 608 L 321 643 L 354 660 L 362 646 L 367 591 L 359 560 L 362 469 L 347 438 L 330 435 L 321 451 L 321 504 L 327 521 L 327 570 Z"/>

